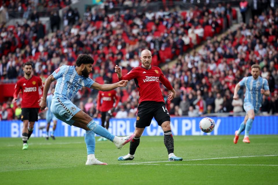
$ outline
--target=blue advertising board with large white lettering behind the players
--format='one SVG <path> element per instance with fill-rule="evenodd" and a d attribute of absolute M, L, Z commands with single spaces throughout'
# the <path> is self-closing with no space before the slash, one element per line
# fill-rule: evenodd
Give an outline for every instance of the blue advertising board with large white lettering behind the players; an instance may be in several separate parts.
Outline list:
<path fill-rule="evenodd" d="M 215 128 L 211 133 L 204 133 L 199 128 L 199 121 L 203 117 L 172 117 L 171 128 L 173 135 L 233 135 L 239 128 L 244 117 L 211 117 L 215 121 Z M 100 124 L 100 119 L 95 119 Z M 111 119 L 109 132 L 116 136 L 126 136 L 134 132 L 136 118 Z M 51 123 L 52 125 L 53 123 Z M 39 129 L 46 125 L 45 120 L 39 120 L 34 125 L 32 137 L 44 137 L 46 129 Z M 22 121 L 0 121 L 0 137 L 21 137 Z M 51 131 L 52 127 L 50 127 Z M 278 134 L 278 116 L 256 116 L 250 134 Z M 85 130 L 58 120 L 55 136 L 84 136 Z M 162 136 L 163 131 L 152 120 L 151 125 L 146 127 L 143 136 Z"/>

